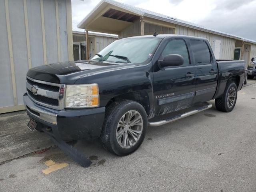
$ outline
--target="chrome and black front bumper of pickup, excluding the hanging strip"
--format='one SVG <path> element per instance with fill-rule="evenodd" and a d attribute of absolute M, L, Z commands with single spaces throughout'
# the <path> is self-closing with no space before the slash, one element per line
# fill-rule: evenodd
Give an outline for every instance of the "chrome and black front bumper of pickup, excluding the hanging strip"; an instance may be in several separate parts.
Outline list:
<path fill-rule="evenodd" d="M 44 127 L 51 127 L 62 140 L 92 140 L 100 137 L 105 118 L 105 107 L 55 110 L 33 102 L 23 96 L 30 118 Z"/>

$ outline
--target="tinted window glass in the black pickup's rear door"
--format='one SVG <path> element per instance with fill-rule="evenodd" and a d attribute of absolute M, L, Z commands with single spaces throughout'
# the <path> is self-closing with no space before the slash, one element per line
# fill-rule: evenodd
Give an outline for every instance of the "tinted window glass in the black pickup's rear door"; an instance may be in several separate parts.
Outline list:
<path fill-rule="evenodd" d="M 196 65 L 209 64 L 211 62 L 211 56 L 206 42 L 191 40 L 190 43 L 194 53 Z"/>

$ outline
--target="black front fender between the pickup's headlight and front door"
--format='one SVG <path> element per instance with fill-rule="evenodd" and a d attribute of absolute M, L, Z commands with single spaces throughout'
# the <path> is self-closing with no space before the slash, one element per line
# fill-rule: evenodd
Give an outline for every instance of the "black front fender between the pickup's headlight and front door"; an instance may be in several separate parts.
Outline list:
<path fill-rule="evenodd" d="M 149 100 L 150 112 L 154 108 L 152 62 L 147 65 L 134 65 L 130 68 L 120 68 L 99 74 L 81 77 L 76 84 L 97 83 L 100 91 L 100 106 L 117 96 L 146 92 Z"/>

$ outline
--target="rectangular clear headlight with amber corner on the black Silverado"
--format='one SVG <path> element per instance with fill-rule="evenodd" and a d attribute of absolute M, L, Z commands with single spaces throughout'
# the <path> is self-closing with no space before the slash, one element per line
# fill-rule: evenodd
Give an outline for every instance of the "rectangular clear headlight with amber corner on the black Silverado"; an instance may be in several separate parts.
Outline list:
<path fill-rule="evenodd" d="M 67 85 L 65 97 L 66 108 L 86 108 L 98 106 L 98 84 Z"/>

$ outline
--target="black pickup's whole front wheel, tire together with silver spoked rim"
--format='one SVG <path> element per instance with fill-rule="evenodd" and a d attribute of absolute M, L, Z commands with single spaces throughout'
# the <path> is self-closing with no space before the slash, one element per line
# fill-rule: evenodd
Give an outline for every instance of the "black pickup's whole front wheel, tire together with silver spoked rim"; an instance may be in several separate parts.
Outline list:
<path fill-rule="evenodd" d="M 132 120 L 135 120 L 135 126 L 130 126 Z M 134 152 L 142 144 L 147 125 L 146 111 L 138 102 L 131 100 L 114 102 L 106 110 L 100 140 L 109 152 L 118 156 L 125 156 Z M 133 134 L 134 131 L 136 131 L 135 134 Z M 128 140 L 125 139 L 126 134 Z"/>

